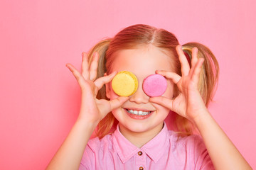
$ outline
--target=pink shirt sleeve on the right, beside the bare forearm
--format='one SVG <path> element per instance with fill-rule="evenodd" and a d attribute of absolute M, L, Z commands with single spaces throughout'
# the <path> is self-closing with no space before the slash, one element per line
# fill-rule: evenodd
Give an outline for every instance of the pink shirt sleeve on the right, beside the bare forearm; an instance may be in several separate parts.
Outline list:
<path fill-rule="evenodd" d="M 198 135 L 191 135 L 190 140 L 190 152 L 191 157 L 193 157 L 193 164 L 195 164 L 195 169 L 214 169 L 213 162 L 210 159 L 206 145 L 204 144 L 202 138 Z"/>

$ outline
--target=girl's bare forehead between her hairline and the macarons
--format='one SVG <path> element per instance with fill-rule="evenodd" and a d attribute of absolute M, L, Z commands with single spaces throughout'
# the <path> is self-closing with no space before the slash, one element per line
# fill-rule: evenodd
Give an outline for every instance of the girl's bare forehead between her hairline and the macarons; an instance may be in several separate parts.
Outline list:
<path fill-rule="evenodd" d="M 148 45 L 131 50 L 119 50 L 114 53 L 112 71 L 127 70 L 137 76 L 154 74 L 156 69 L 174 72 L 174 55 L 159 47 Z"/>

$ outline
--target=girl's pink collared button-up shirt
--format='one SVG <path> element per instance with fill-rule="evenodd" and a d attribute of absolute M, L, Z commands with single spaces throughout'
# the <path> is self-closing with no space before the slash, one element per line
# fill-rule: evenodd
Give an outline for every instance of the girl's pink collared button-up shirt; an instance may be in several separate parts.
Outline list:
<path fill-rule="evenodd" d="M 117 130 L 89 140 L 79 169 L 214 169 L 198 135 L 180 137 L 164 128 L 143 147 L 132 145 Z"/>

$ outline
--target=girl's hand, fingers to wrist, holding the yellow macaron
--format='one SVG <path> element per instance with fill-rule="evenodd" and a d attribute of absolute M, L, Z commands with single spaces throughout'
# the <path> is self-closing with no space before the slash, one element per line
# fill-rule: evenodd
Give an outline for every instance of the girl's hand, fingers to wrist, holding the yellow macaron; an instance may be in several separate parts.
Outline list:
<path fill-rule="evenodd" d="M 96 79 L 98 60 L 99 54 L 95 52 L 92 63 L 89 65 L 88 55 L 82 52 L 82 74 L 80 74 L 72 64 L 66 64 L 66 67 L 70 69 L 75 79 L 77 79 L 82 91 L 82 101 L 78 119 L 86 120 L 90 123 L 99 123 L 107 113 L 110 113 L 114 108 L 118 108 L 128 99 L 128 97 L 118 97 L 112 101 L 107 101 L 105 99 L 99 100 L 96 98 L 97 92 L 102 86 L 109 83 L 114 78 L 115 74 L 117 74 L 117 72 L 112 72 L 112 74 L 108 76 Z"/>

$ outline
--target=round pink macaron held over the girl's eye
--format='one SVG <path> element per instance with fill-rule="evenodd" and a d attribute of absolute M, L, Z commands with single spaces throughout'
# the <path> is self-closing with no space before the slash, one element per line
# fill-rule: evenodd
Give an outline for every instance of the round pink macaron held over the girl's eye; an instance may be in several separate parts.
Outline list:
<path fill-rule="evenodd" d="M 144 79 L 142 89 L 147 96 L 162 96 L 167 88 L 166 79 L 160 74 L 151 74 Z"/>

